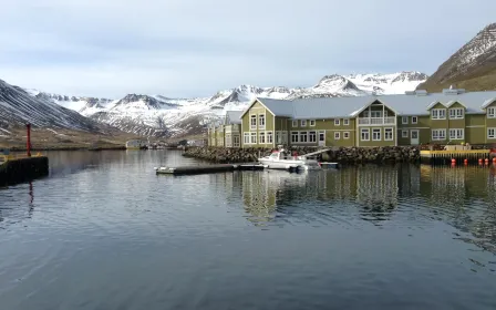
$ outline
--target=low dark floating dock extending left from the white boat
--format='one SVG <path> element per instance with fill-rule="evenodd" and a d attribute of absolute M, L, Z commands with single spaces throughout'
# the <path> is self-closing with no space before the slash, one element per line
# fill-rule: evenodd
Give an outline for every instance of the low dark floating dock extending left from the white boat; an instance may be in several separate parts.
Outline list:
<path fill-rule="evenodd" d="M 221 164 L 221 165 L 204 165 L 204 166 L 179 166 L 179 167 L 158 167 L 155 168 L 156 174 L 165 175 L 187 175 L 187 174 L 208 174 L 223 173 L 234 170 L 262 170 L 264 165 L 260 164 Z"/>

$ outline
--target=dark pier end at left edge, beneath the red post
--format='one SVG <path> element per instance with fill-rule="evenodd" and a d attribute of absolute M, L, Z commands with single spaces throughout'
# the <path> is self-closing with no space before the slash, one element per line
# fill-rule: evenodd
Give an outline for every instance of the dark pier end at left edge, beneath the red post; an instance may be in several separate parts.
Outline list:
<path fill-rule="evenodd" d="M 0 163 L 0 186 L 25 182 L 49 174 L 49 158 L 25 157 Z"/>

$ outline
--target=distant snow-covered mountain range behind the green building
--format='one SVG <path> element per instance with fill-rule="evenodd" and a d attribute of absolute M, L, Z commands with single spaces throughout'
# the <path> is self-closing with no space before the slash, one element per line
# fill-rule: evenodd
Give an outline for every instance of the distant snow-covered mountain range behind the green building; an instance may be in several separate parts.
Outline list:
<path fill-rule="evenodd" d="M 240 85 L 210 97 L 169 99 L 163 95 L 128 94 L 121 100 L 50 95 L 60 105 L 122 131 L 156 137 L 199 134 L 205 125 L 229 110 L 244 110 L 255 97 L 294 100 L 302 97 L 396 94 L 412 91 L 427 75 L 420 72 L 393 74 L 326 75 L 310 87 L 258 87 Z M 37 96 L 43 96 L 37 93 Z M 69 99 L 69 100 L 68 100 Z"/>

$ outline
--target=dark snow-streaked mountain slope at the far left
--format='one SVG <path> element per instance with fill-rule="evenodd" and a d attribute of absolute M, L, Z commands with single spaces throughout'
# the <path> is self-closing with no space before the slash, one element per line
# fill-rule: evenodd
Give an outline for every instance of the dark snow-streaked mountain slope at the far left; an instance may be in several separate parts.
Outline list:
<path fill-rule="evenodd" d="M 103 133 L 108 127 L 0 80 L 0 127 L 6 132 L 9 127 L 23 126 L 27 123 L 35 127 L 91 133 Z"/>

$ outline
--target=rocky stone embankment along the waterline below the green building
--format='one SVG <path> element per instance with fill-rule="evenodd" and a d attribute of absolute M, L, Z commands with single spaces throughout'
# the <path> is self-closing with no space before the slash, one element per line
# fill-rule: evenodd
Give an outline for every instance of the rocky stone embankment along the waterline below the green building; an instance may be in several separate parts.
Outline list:
<path fill-rule="evenodd" d="M 299 155 L 322 149 L 323 147 L 292 146 L 288 149 L 296 151 Z M 261 156 L 267 156 L 273 148 L 226 148 L 226 147 L 187 147 L 183 154 L 186 157 L 195 157 L 214 163 L 249 163 L 256 162 Z M 384 146 L 384 147 L 332 147 L 319 155 L 323 162 L 337 162 L 342 164 L 360 163 L 386 163 L 420 161 L 420 149 L 416 146 Z"/>

